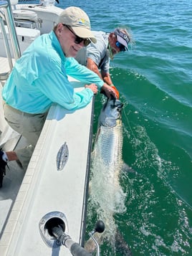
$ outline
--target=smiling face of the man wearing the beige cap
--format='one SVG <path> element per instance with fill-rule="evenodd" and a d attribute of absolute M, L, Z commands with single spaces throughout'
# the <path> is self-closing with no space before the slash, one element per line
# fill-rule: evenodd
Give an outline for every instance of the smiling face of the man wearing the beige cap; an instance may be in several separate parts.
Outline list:
<path fill-rule="evenodd" d="M 62 23 L 57 25 L 57 38 L 61 44 L 62 51 L 65 57 L 75 57 L 77 52 L 84 47 L 84 42 L 80 44 L 75 43 L 75 34 L 73 34 L 66 26 Z"/>

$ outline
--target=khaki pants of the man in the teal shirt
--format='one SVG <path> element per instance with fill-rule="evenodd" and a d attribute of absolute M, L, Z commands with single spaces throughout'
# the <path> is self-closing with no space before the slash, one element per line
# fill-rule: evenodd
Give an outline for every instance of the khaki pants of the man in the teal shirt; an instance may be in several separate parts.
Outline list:
<path fill-rule="evenodd" d="M 23 168 L 27 169 L 34 147 L 42 131 L 44 121 L 46 120 L 47 113 L 28 114 L 11 108 L 11 106 L 4 103 L 4 116 L 11 128 L 21 134 L 21 136 L 24 136 L 24 138 L 27 138 L 29 142 L 29 146 L 15 151 Z"/>

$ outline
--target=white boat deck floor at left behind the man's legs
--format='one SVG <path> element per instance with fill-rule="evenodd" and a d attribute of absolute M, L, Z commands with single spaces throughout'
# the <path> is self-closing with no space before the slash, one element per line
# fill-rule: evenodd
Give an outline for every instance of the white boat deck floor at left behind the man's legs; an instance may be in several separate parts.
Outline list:
<path fill-rule="evenodd" d="M 6 58 L 1 57 L 0 72 L 8 72 L 9 65 Z M 18 133 L 9 127 L 4 120 L 4 110 L 1 99 L 1 88 L 4 82 L 0 82 L 0 148 L 4 151 L 12 151 L 15 148 L 26 146 L 26 140 L 21 138 Z M 6 168 L 6 176 L 4 176 L 3 187 L 0 189 L 0 238 L 4 232 L 7 219 L 16 200 L 21 182 L 24 178 L 25 171 L 16 161 L 9 162 L 9 169 Z"/>

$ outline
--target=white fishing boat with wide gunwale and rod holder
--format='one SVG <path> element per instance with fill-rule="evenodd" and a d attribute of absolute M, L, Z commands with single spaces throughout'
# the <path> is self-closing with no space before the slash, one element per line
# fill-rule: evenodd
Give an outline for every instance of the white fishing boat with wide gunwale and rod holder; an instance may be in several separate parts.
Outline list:
<path fill-rule="evenodd" d="M 62 9 L 54 5 L 12 3 L 15 35 L 9 2 L 0 1 L 0 8 L 1 89 L 14 61 L 35 38 L 52 30 Z M 11 48 L 8 54 L 3 47 L 2 34 L 6 34 Z M 82 89 L 79 81 L 72 77 L 69 80 L 75 90 Z M 9 162 L 0 190 L 1 256 L 72 255 L 52 234 L 56 224 L 62 224 L 72 240 L 84 244 L 92 116 L 93 101 L 73 113 L 52 105 L 27 170 L 21 169 L 16 161 Z M 0 146 L 10 151 L 25 143 L 4 120 L 0 100 Z"/>

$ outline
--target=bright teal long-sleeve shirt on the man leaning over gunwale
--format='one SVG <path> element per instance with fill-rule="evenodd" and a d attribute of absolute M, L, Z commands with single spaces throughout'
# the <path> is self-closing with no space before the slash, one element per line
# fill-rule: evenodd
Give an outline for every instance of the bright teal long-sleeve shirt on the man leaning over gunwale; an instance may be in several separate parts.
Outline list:
<path fill-rule="evenodd" d="M 52 103 L 67 110 L 84 108 L 92 98 L 92 90 L 75 93 L 67 75 L 85 84 L 103 81 L 74 58 L 65 57 L 54 34 L 44 34 L 32 42 L 16 61 L 2 90 L 8 105 L 26 113 L 45 113 Z"/>

